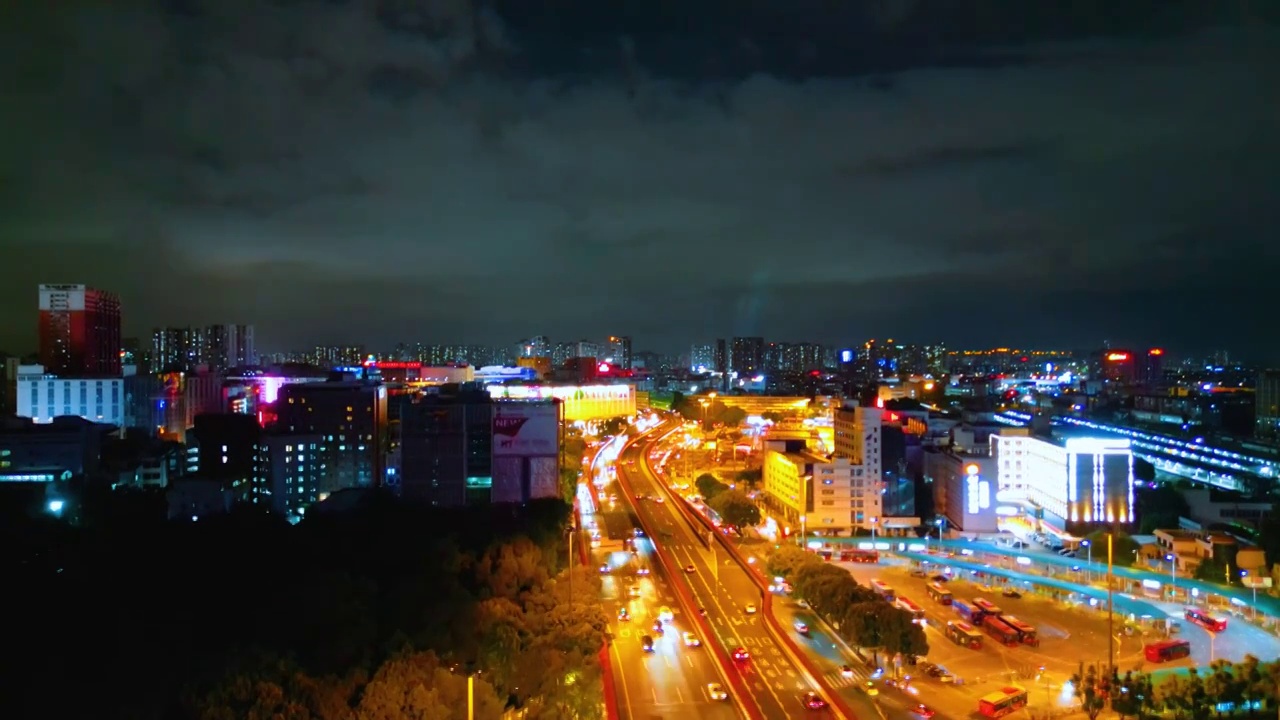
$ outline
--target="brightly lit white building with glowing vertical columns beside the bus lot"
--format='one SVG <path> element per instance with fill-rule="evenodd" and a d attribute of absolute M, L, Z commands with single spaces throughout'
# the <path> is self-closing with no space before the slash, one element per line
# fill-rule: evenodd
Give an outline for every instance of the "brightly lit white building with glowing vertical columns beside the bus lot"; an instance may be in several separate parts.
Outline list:
<path fill-rule="evenodd" d="M 991 437 L 991 455 L 998 502 L 1020 502 L 1057 532 L 1134 521 L 1128 438 L 1047 439 L 1011 428 Z"/>

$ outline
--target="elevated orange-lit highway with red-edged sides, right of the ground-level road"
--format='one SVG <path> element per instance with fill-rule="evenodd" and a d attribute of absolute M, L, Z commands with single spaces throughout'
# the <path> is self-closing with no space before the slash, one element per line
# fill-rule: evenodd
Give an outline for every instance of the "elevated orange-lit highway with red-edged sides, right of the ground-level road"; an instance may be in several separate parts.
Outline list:
<path fill-rule="evenodd" d="M 746 570 L 723 551 L 714 550 L 716 543 L 710 543 L 709 550 L 704 542 L 708 538 L 701 538 L 690 527 L 666 484 L 653 475 L 646 462 L 645 454 L 652 447 L 652 442 L 637 442 L 618 459 L 618 471 L 626 475 L 631 489 L 644 497 L 630 500 L 659 533 L 654 539 L 678 565 L 692 566 L 684 580 L 716 629 L 716 642 L 731 653 L 739 647 L 750 653 L 750 659 L 737 662 L 737 670 L 764 717 L 833 717 L 829 708 L 813 711 L 804 706 L 804 694 L 819 689 L 778 647 L 759 611 L 748 612 L 749 605 L 762 606 L 759 589 Z"/>

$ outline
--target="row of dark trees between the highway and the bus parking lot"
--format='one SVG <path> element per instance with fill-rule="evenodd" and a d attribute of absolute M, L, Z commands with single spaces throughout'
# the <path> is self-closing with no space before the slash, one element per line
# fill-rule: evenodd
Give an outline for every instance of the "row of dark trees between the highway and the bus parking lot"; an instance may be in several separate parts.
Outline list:
<path fill-rule="evenodd" d="M 808 602 L 845 642 L 873 653 L 928 655 L 929 641 L 924 628 L 913 621 L 911 614 L 858 584 L 844 568 L 794 544 L 785 544 L 769 556 L 768 570 L 786 578 L 794 594 Z"/>

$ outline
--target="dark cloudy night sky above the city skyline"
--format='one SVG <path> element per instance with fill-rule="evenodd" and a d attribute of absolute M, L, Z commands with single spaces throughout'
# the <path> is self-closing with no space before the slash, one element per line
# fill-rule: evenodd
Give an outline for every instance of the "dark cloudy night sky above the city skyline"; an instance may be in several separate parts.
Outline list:
<path fill-rule="evenodd" d="M 269 350 L 1280 359 L 1280 13 L 1119 5 L 6 4 L 0 347 L 33 347 L 37 283 L 84 282 L 127 334 Z"/>

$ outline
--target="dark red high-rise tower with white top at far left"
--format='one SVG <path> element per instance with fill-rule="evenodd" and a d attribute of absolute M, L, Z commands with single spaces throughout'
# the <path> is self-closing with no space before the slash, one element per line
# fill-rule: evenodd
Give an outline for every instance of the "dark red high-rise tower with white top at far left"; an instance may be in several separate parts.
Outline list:
<path fill-rule="evenodd" d="M 40 364 L 52 375 L 119 377 L 119 296 L 83 284 L 41 284 Z"/>

